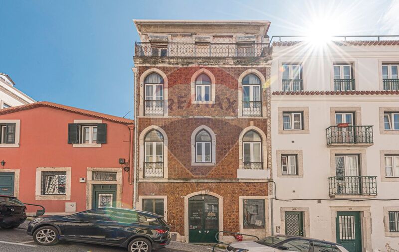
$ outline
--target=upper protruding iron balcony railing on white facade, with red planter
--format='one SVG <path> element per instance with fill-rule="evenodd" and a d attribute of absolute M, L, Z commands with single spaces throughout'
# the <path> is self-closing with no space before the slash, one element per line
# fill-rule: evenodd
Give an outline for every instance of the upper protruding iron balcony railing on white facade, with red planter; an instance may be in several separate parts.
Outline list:
<path fill-rule="evenodd" d="M 326 128 L 326 132 L 327 146 L 373 144 L 373 126 L 330 126 Z"/>

